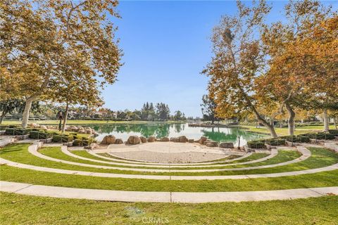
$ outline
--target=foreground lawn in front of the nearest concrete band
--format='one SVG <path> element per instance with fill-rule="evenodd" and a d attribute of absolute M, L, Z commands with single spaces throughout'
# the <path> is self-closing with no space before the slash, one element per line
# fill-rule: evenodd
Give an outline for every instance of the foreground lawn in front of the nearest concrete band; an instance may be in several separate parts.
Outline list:
<path fill-rule="evenodd" d="M 3 224 L 337 224 L 338 196 L 244 203 L 111 203 L 0 193 Z M 273 210 L 272 210 L 273 209 Z M 297 210 L 295 210 L 297 209 Z"/>

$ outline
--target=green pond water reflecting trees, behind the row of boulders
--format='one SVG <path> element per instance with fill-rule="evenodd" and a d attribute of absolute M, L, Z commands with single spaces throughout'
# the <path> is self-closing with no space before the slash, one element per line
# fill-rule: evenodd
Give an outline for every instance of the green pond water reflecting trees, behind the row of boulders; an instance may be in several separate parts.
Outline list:
<path fill-rule="evenodd" d="M 118 139 L 127 141 L 130 135 L 137 136 L 163 136 L 177 137 L 187 136 L 188 139 L 199 139 L 206 136 L 213 141 L 232 142 L 235 146 L 244 146 L 246 141 L 262 139 L 266 136 L 263 134 L 253 134 L 245 129 L 225 128 L 225 127 L 189 127 L 188 124 L 167 124 L 167 123 L 149 123 L 149 124 L 106 124 L 91 125 L 99 136 L 98 141 L 104 139 L 104 136 L 113 134 Z"/>

